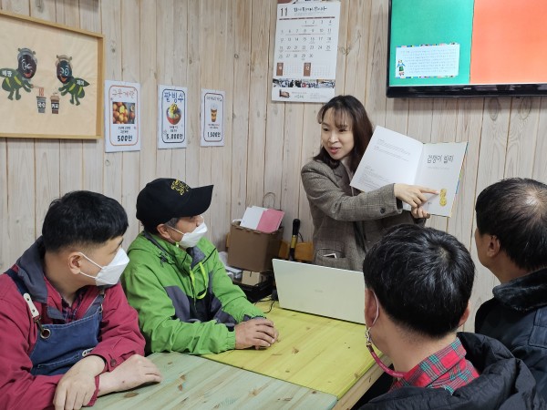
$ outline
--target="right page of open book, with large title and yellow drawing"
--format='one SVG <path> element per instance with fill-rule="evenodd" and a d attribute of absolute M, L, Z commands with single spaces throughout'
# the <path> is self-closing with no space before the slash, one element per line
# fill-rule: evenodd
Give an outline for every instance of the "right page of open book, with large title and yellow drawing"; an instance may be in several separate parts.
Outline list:
<path fill-rule="evenodd" d="M 424 209 L 429 213 L 451 216 L 467 144 L 441 142 L 424 145 L 416 185 L 439 190 L 439 195 L 429 196 L 428 202 L 424 205 Z"/>

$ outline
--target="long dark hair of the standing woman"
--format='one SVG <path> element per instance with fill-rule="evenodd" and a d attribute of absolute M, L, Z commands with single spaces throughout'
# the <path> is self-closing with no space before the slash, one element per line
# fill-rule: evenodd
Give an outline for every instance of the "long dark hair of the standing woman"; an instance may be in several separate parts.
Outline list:
<path fill-rule="evenodd" d="M 331 98 L 317 113 L 319 124 L 323 122 L 325 113 L 333 109 L 336 125 L 342 124 L 343 119 L 351 119 L 351 130 L 354 135 L 354 149 L 350 154 L 349 169 L 355 172 L 359 162 L 365 154 L 366 147 L 372 137 L 372 123 L 366 114 L 366 109 L 361 102 L 353 96 L 337 96 Z M 332 159 L 325 147 L 321 147 L 319 153 L 314 157 L 315 160 L 325 162 L 330 168 L 335 169 L 340 164 L 337 159 Z"/>

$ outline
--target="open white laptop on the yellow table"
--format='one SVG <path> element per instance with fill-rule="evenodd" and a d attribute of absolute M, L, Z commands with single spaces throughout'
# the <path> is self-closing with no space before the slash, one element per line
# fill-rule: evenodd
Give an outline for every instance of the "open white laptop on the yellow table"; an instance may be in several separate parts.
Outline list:
<path fill-rule="evenodd" d="M 282 308 L 365 323 L 363 272 L 280 259 L 273 264 Z"/>

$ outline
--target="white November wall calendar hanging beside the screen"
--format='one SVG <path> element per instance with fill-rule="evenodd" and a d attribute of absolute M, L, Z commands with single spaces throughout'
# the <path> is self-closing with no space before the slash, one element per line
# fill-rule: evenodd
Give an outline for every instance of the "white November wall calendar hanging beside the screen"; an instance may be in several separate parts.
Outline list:
<path fill-rule="evenodd" d="M 335 97 L 340 2 L 278 0 L 272 100 Z"/>

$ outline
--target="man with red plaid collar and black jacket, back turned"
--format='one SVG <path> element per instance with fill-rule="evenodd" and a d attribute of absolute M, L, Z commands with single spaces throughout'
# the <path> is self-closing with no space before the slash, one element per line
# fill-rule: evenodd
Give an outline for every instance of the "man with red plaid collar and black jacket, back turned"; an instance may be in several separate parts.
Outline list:
<path fill-rule="evenodd" d="M 528 368 L 501 343 L 456 333 L 469 317 L 475 266 L 443 231 L 401 225 L 366 254 L 367 345 L 395 370 L 389 392 L 363 409 L 547 408 Z"/>

